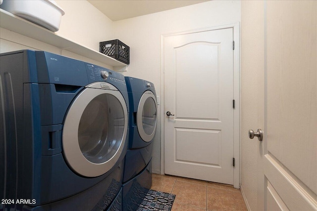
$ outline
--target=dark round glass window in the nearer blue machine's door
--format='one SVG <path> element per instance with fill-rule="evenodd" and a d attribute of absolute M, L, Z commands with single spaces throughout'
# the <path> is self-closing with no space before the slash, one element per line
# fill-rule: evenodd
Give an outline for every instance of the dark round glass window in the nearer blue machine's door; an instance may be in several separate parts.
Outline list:
<path fill-rule="evenodd" d="M 101 94 L 89 102 L 81 115 L 78 143 L 84 157 L 95 164 L 114 156 L 122 143 L 124 112 L 118 99 Z"/>

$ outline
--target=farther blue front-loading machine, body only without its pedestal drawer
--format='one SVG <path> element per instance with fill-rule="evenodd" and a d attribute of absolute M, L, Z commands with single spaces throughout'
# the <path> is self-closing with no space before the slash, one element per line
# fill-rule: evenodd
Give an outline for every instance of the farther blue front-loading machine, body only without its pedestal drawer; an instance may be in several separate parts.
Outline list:
<path fill-rule="evenodd" d="M 157 98 L 153 83 L 125 77 L 129 94 L 129 145 L 123 182 L 141 172 L 150 162 L 157 128 Z"/>

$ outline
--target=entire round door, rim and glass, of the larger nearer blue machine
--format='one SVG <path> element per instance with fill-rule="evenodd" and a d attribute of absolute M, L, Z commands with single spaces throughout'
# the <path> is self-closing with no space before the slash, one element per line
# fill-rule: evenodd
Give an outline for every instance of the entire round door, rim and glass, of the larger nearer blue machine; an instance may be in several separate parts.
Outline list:
<path fill-rule="evenodd" d="M 70 168 L 87 177 L 112 169 L 124 149 L 127 118 L 125 100 L 111 84 L 95 83 L 81 91 L 63 127 L 63 153 Z"/>

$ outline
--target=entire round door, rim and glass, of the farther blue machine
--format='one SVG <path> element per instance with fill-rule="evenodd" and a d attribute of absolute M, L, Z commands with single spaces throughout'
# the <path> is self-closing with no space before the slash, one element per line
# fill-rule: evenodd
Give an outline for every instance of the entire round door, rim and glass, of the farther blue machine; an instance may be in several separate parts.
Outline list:
<path fill-rule="evenodd" d="M 137 127 L 141 138 L 149 142 L 157 129 L 157 99 L 152 91 L 146 91 L 141 96 L 137 111 Z"/>

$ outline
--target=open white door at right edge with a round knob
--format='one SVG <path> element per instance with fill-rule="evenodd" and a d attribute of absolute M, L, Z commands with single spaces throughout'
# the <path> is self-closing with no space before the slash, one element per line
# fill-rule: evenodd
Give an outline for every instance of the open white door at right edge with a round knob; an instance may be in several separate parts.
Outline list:
<path fill-rule="evenodd" d="M 317 1 L 264 4 L 258 210 L 317 210 Z"/>

